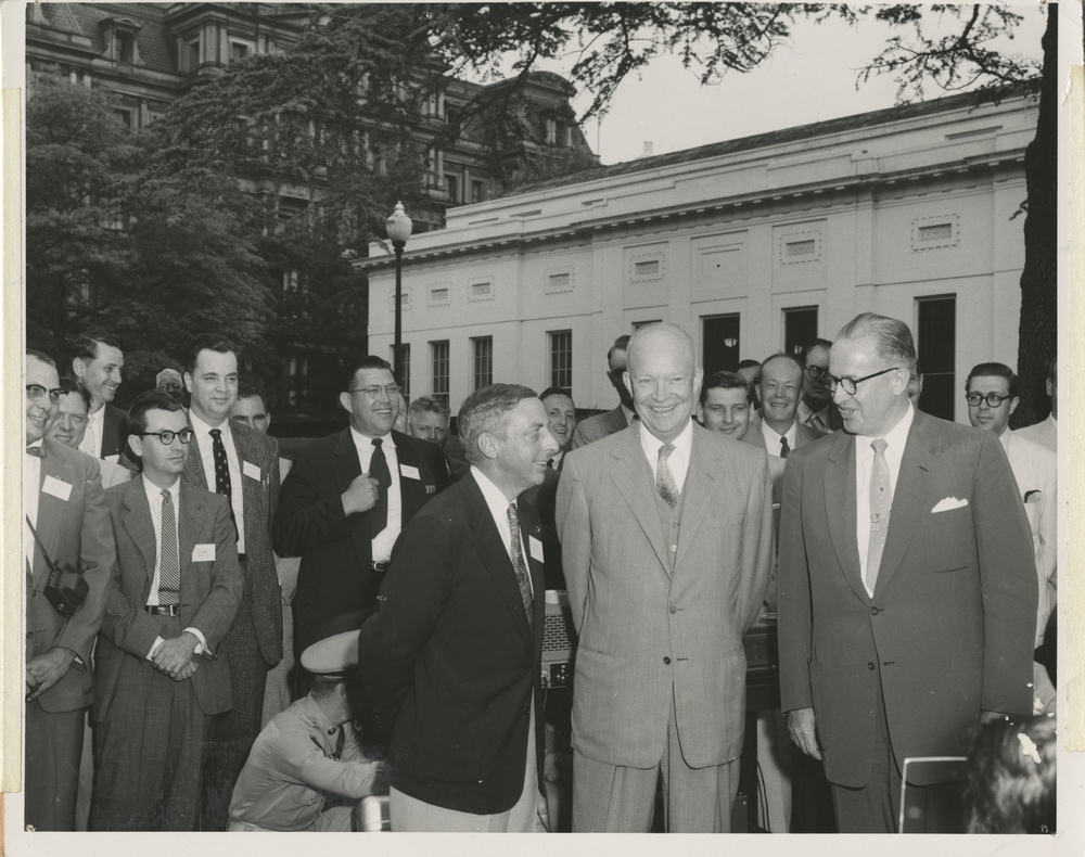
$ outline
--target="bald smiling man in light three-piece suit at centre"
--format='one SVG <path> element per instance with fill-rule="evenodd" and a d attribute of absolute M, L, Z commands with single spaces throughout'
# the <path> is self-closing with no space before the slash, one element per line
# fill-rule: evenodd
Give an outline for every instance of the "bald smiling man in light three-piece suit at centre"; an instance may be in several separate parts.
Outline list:
<path fill-rule="evenodd" d="M 573 830 L 730 829 L 745 721 L 742 635 L 773 555 L 767 457 L 690 419 L 702 370 L 678 328 L 629 341 L 639 424 L 573 450 L 558 532 L 573 623 Z"/>

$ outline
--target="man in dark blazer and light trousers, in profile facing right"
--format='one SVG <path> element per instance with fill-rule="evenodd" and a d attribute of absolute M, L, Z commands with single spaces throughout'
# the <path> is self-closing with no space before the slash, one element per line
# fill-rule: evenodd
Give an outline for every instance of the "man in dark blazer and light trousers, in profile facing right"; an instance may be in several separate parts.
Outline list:
<path fill-rule="evenodd" d="M 470 474 L 407 526 L 362 628 L 362 682 L 391 729 L 394 830 L 540 827 L 542 545 L 516 497 L 558 449 L 546 423 L 527 387 L 468 396 Z"/>

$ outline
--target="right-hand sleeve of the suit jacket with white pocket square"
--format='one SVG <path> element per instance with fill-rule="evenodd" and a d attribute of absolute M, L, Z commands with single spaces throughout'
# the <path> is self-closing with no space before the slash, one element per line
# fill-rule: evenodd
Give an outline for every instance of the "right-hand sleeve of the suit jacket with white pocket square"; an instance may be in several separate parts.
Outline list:
<path fill-rule="evenodd" d="M 972 520 L 983 592 L 980 707 L 1032 714 L 1036 561 L 1024 507 L 998 438 L 984 433 L 975 468 Z"/>

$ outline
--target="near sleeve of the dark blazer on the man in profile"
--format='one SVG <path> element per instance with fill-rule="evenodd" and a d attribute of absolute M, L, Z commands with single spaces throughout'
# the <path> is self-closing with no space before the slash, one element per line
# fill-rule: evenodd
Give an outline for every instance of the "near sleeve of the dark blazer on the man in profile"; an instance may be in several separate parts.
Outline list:
<path fill-rule="evenodd" d="M 408 525 L 392 560 L 378 613 L 359 638 L 359 669 L 381 731 L 391 733 L 410 690 L 414 662 L 433 634 L 452 587 L 449 526 L 419 516 Z"/>

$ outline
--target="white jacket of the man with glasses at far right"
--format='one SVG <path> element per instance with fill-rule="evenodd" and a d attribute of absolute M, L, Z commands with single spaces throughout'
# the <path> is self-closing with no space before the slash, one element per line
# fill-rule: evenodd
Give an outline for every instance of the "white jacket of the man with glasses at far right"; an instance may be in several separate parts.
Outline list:
<path fill-rule="evenodd" d="M 1032 534 L 1039 604 L 1036 610 L 1036 647 L 1044 642 L 1047 618 L 1056 604 L 1056 568 L 1059 562 L 1059 459 L 1050 449 L 1021 437 L 1009 428 L 1001 436 L 1018 495 L 1024 503 Z"/>

